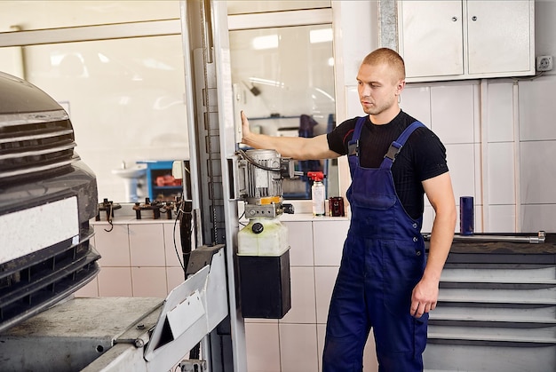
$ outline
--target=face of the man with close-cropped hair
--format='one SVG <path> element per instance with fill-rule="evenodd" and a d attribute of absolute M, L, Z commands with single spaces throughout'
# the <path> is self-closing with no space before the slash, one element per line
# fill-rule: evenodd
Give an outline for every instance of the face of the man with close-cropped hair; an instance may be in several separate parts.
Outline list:
<path fill-rule="evenodd" d="M 357 91 L 363 111 L 369 115 L 380 115 L 394 105 L 404 82 L 385 64 L 363 64 L 357 74 Z"/>

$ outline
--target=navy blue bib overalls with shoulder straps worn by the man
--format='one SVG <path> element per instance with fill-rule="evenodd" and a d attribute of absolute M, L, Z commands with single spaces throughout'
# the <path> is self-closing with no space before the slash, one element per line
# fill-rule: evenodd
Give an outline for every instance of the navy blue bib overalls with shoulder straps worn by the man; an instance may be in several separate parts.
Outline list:
<path fill-rule="evenodd" d="M 338 278 L 330 300 L 323 372 L 362 370 L 363 348 L 374 329 L 380 372 L 423 370 L 428 313 L 409 313 L 411 293 L 425 270 L 423 218 L 403 209 L 391 167 L 415 122 L 393 141 L 380 168 L 359 164 L 359 138 L 366 117 L 355 125 L 348 159 L 352 210 Z"/>

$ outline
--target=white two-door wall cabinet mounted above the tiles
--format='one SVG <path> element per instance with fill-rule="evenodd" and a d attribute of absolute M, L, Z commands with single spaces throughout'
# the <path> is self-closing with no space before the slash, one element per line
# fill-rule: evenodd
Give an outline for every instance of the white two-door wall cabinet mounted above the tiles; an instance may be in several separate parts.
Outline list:
<path fill-rule="evenodd" d="M 398 2 L 408 82 L 535 74 L 534 0 Z"/>

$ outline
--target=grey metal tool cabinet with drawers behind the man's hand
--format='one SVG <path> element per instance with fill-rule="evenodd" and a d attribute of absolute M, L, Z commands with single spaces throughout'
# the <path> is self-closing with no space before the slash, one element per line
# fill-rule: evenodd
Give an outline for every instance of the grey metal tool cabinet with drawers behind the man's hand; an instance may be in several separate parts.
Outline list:
<path fill-rule="evenodd" d="M 426 370 L 556 370 L 556 236 L 454 242 L 430 315 Z"/>

